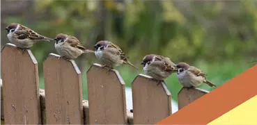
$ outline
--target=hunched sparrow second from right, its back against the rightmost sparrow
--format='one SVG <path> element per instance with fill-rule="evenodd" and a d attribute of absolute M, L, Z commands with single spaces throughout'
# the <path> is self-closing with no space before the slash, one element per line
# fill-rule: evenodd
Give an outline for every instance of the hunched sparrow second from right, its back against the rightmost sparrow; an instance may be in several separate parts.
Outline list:
<path fill-rule="evenodd" d="M 155 54 L 144 56 L 141 65 L 143 72 L 157 81 L 164 81 L 173 72 L 177 72 L 176 64 L 170 58 Z"/>

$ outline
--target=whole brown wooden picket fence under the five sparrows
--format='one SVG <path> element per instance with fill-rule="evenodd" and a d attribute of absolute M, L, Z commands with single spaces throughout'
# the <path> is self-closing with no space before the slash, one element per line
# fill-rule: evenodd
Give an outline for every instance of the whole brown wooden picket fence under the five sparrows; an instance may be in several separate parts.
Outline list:
<path fill-rule="evenodd" d="M 133 113 L 126 109 L 125 83 L 118 71 L 93 64 L 88 101 L 82 100 L 81 72 L 74 60 L 50 53 L 43 63 L 45 90 L 38 88 L 38 62 L 13 44 L 1 51 L 0 117 L 5 124 L 155 124 L 171 115 L 171 92 L 139 74 L 132 82 Z M 208 93 L 182 88 L 179 109 Z"/>

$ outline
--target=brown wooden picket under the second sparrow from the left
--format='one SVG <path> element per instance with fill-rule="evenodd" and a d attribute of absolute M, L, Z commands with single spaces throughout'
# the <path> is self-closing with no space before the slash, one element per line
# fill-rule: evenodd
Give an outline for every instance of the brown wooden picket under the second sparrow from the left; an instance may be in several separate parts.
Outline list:
<path fill-rule="evenodd" d="M 47 124 L 83 124 L 81 72 L 59 57 L 50 53 L 43 64 Z"/>

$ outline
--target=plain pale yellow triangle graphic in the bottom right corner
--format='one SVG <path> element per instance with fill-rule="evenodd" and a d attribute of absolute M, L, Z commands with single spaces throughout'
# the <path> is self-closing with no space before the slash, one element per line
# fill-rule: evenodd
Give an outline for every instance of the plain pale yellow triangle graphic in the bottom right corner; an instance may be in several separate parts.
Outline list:
<path fill-rule="evenodd" d="M 229 100 L 227 103 L 229 103 Z M 229 125 L 257 125 L 257 95 L 245 101 L 240 106 L 233 108 L 228 113 L 221 115 L 221 117 L 218 117 L 217 119 L 213 120 L 208 125 L 228 125 L 228 124 Z"/>

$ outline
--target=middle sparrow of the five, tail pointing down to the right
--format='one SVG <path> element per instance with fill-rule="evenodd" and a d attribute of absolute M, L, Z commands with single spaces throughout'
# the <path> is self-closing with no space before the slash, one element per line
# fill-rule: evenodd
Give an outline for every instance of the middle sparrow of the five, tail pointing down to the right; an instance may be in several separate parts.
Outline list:
<path fill-rule="evenodd" d="M 137 67 L 130 63 L 128 57 L 116 44 L 113 44 L 107 40 L 101 40 L 97 42 L 94 47 L 95 56 L 98 58 L 103 67 L 114 69 L 114 67 L 119 65 L 127 64 L 137 69 Z"/>

